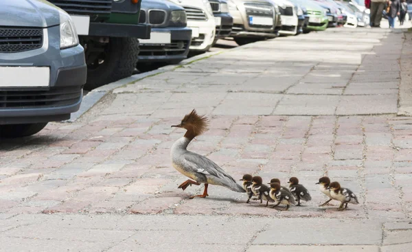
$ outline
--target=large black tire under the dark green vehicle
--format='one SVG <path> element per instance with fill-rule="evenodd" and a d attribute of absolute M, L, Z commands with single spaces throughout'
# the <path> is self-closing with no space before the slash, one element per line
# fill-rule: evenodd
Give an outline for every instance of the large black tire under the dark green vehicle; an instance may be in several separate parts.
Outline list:
<path fill-rule="evenodd" d="M 87 47 L 86 47 L 87 48 Z M 102 45 L 100 60 L 87 65 L 87 82 L 84 89 L 91 90 L 115 82 L 133 74 L 139 56 L 139 41 L 136 38 L 109 38 Z M 87 49 L 85 51 L 87 55 Z"/>

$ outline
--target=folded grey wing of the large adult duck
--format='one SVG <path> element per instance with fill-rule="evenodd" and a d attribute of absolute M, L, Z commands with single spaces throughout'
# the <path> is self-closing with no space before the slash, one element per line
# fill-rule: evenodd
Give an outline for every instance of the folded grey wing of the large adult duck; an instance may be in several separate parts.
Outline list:
<path fill-rule="evenodd" d="M 213 181 L 214 185 L 222 185 L 235 192 L 246 192 L 243 187 L 219 167 L 214 161 L 194 152 L 183 154 L 186 162 L 190 163 L 196 172 L 204 174 L 207 179 Z"/>

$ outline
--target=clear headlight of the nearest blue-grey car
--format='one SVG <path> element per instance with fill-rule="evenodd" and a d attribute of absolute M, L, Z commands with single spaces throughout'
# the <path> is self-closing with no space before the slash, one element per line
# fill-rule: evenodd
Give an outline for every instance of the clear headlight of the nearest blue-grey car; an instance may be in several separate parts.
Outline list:
<path fill-rule="evenodd" d="M 75 47 L 79 44 L 79 37 L 76 27 L 69 14 L 59 10 L 60 15 L 60 49 Z"/>

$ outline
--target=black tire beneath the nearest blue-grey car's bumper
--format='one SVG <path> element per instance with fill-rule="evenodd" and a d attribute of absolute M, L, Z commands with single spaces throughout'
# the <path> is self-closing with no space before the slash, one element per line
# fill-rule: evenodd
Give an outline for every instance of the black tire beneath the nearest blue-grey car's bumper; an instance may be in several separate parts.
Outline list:
<path fill-rule="evenodd" d="M 47 122 L 37 124 L 6 124 L 0 125 L 0 138 L 28 137 L 43 130 Z"/>

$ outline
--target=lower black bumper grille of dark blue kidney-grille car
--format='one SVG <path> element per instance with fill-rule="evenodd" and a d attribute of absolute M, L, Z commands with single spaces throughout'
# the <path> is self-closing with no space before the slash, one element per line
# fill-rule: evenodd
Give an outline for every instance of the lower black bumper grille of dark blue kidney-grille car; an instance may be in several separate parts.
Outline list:
<path fill-rule="evenodd" d="M 189 41 L 172 41 L 165 45 L 140 45 L 139 56 L 178 56 L 185 54 Z"/>

